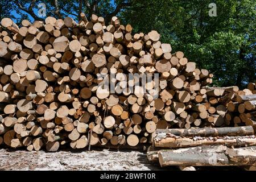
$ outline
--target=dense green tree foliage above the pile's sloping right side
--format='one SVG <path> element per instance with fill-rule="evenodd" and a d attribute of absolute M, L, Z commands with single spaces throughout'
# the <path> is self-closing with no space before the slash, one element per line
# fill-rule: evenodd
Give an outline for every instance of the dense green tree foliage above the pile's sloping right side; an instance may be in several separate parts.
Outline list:
<path fill-rule="evenodd" d="M 214 73 L 218 86 L 255 81 L 255 1 L 137 1 L 122 13 L 136 31 L 158 30 L 174 51 Z"/>

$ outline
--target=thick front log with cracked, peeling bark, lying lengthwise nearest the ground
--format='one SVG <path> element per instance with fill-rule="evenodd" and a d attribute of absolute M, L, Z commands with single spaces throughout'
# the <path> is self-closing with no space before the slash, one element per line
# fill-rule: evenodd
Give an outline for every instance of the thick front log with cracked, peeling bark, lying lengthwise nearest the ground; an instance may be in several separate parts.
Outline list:
<path fill-rule="evenodd" d="M 164 166 L 255 166 L 256 147 L 228 148 L 204 146 L 160 151 L 159 163 Z M 245 160 L 247 159 L 247 160 Z"/>

